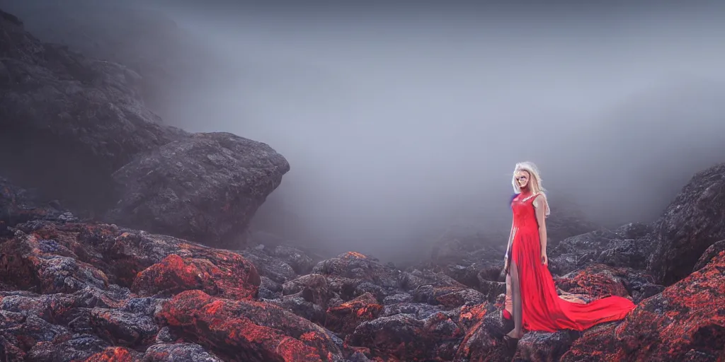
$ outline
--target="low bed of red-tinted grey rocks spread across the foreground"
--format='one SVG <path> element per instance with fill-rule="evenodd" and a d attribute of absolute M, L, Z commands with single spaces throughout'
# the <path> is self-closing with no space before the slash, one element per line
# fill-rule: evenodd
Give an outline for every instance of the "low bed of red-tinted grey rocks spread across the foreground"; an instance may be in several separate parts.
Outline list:
<path fill-rule="evenodd" d="M 643 264 L 641 246 L 657 243 L 646 225 L 564 240 L 550 253 L 560 290 L 637 308 L 581 334 L 531 332 L 510 351 L 500 261 L 471 287 L 455 263 L 402 271 L 355 252 L 314 261 L 283 245 L 228 251 L 80 222 L 1 184 L 1 361 L 725 358 L 725 242 L 665 287 Z"/>

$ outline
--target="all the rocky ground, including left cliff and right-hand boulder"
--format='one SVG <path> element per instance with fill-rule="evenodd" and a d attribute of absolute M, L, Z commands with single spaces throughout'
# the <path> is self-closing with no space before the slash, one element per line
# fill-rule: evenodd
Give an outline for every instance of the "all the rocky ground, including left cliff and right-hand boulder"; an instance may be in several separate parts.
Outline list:
<path fill-rule="evenodd" d="M 653 224 L 553 222 L 561 292 L 637 308 L 508 350 L 505 245 L 446 237 L 404 270 L 245 245 L 289 164 L 254 140 L 162 125 L 134 77 L 0 12 L 0 361 L 725 360 L 725 164 Z"/>

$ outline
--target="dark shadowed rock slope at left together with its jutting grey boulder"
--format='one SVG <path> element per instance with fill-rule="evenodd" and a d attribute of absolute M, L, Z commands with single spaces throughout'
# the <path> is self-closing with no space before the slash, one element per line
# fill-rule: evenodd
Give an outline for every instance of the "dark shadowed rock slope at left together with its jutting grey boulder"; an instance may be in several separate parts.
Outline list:
<path fill-rule="evenodd" d="M 161 125 L 139 77 L 42 43 L 0 12 L 0 152 L 13 155 L 0 173 L 78 215 L 239 246 L 289 163 L 254 140 Z"/>

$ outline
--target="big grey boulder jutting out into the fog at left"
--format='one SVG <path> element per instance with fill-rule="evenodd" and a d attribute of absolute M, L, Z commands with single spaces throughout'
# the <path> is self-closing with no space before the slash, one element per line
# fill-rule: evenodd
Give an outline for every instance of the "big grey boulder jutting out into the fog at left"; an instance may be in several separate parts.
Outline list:
<path fill-rule="evenodd" d="M 254 212 L 289 163 L 272 148 L 231 133 L 196 133 L 118 169 L 108 218 L 149 232 L 238 248 Z M 244 240 L 241 240 L 244 241 Z"/>

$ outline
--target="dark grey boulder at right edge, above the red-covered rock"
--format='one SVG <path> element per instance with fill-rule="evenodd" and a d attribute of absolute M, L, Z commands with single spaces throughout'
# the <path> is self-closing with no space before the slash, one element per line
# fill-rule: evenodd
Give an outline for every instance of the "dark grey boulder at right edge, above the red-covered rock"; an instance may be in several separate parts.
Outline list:
<path fill-rule="evenodd" d="M 663 285 L 687 277 L 703 252 L 725 239 L 725 164 L 698 172 L 655 223 L 647 269 Z"/>

